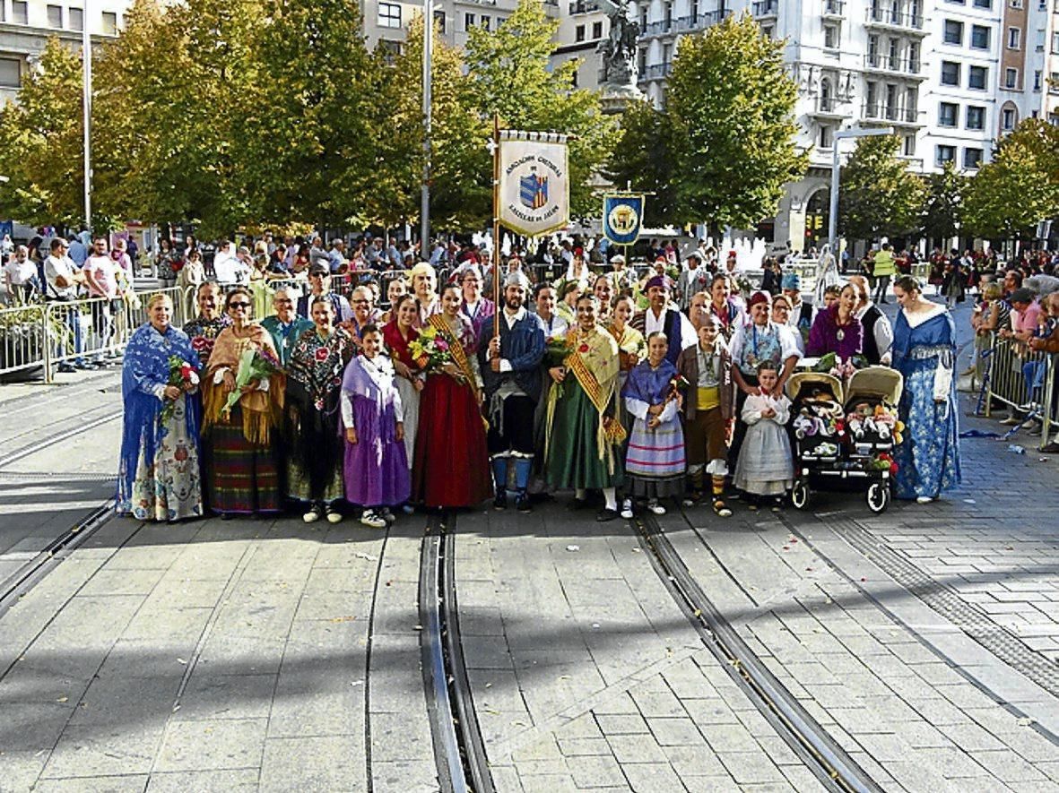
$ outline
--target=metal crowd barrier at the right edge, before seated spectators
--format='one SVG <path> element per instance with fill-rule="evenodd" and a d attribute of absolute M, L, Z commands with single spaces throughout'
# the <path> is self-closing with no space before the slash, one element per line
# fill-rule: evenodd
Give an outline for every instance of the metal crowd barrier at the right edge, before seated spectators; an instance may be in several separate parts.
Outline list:
<path fill-rule="evenodd" d="M 1024 411 L 1028 417 L 1041 419 L 1041 445 L 1047 444 L 1059 423 L 1059 354 L 1034 352 L 1015 339 L 990 334 L 988 344 L 980 350 L 977 366 L 982 371 L 979 412 L 989 417 L 994 400 Z"/>

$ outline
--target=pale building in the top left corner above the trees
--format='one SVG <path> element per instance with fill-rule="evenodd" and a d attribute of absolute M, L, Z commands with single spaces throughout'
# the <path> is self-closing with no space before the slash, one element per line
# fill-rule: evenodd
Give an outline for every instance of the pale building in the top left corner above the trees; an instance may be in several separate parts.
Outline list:
<path fill-rule="evenodd" d="M 93 38 L 115 36 L 127 0 L 93 0 L 88 19 Z M 18 95 L 22 78 L 33 67 L 50 36 L 80 47 L 84 3 L 48 0 L 0 0 L 0 104 Z"/>

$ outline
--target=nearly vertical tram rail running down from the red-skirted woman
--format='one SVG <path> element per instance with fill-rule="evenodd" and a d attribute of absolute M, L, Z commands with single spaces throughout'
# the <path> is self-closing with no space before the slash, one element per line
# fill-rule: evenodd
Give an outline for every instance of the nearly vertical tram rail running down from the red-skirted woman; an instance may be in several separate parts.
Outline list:
<path fill-rule="evenodd" d="M 460 639 L 455 520 L 451 512 L 432 516 L 423 538 L 419 642 L 427 710 L 442 790 L 495 793 Z"/>

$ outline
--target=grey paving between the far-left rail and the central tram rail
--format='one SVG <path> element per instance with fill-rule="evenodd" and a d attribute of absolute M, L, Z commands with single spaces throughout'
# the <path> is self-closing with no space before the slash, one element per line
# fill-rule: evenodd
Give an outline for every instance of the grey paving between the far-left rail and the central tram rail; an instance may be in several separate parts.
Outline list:
<path fill-rule="evenodd" d="M 0 619 L 0 791 L 435 789 L 406 523 L 110 521 Z"/>

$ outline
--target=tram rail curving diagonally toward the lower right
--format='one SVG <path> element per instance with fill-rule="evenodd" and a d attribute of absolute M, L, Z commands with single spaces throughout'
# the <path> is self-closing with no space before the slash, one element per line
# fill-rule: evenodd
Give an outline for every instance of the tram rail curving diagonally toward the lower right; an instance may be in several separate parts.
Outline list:
<path fill-rule="evenodd" d="M 841 793 L 881 793 L 882 788 L 776 679 L 720 613 L 654 517 L 638 517 L 633 524 L 654 572 L 703 644 L 821 783 Z"/>

